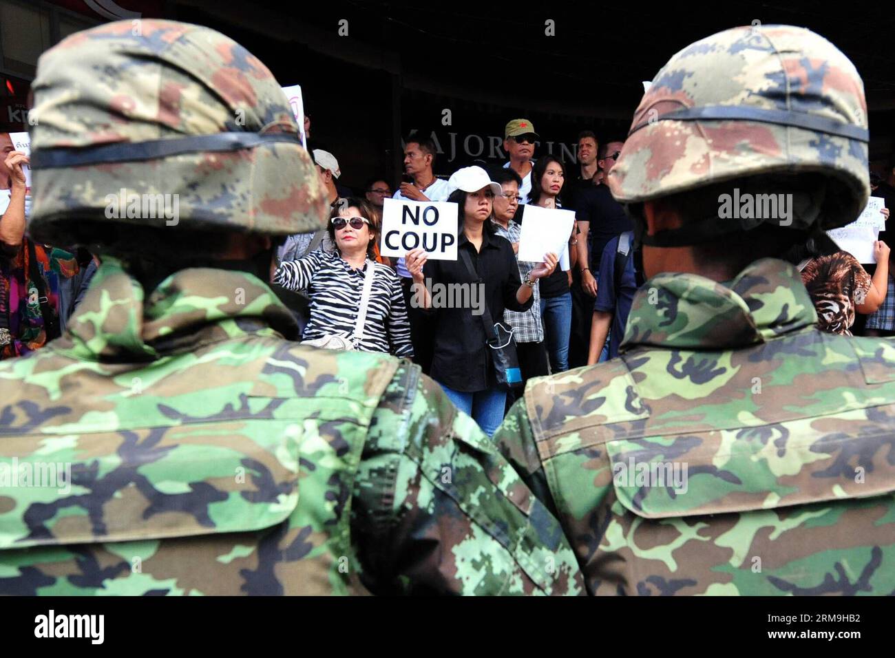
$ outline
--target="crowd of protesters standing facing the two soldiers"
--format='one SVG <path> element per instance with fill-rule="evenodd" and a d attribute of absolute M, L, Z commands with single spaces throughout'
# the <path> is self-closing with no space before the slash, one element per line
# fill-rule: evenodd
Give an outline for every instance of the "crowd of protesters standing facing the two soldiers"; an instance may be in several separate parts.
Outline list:
<path fill-rule="evenodd" d="M 310 119 L 305 129 L 310 139 Z M 29 158 L 4 137 L 0 191 L 8 191 L 9 203 L 0 220 L 0 358 L 10 358 L 64 331 L 98 262 L 83 249 L 35 244 L 26 235 L 22 167 Z M 388 175 L 371 177 L 357 193 L 339 184 L 337 157 L 309 142 L 330 221 L 316 233 L 286 238 L 270 278 L 299 320 L 303 342 L 412 358 L 489 434 L 525 381 L 617 357 L 627 314 L 644 285 L 633 225 L 603 184 L 624 141 L 598 141 L 593 132 L 581 132 L 575 163 L 539 155 L 539 141 L 531 121 L 514 119 L 505 128 L 508 159 L 502 167 L 464 167 L 439 176 L 436 146 L 413 134 L 405 140 L 403 179 L 393 185 Z M 874 196 L 885 200 L 888 219 L 895 161 L 886 175 L 872 175 L 871 184 Z M 419 249 L 394 261 L 382 256 L 386 198 L 456 203 L 457 260 L 427 261 Z M 562 253 L 549 253 L 541 263 L 516 258 L 528 206 L 575 212 Z M 825 235 L 789 254 L 821 329 L 895 336 L 889 235 L 882 231 L 874 244 L 875 265 L 862 265 Z M 490 336 L 473 308 L 433 307 L 427 281 L 481 284 L 487 311 L 505 336 L 497 329 Z M 516 387 L 499 380 L 492 338 L 516 346 Z"/>

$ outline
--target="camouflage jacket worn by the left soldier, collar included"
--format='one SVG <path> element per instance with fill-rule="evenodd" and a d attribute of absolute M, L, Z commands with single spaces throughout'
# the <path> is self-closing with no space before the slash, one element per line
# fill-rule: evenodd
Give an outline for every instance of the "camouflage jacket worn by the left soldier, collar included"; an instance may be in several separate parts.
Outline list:
<path fill-rule="evenodd" d="M 437 384 L 295 331 L 251 275 L 144 302 L 105 262 L 62 338 L 0 364 L 0 594 L 584 591 Z"/>

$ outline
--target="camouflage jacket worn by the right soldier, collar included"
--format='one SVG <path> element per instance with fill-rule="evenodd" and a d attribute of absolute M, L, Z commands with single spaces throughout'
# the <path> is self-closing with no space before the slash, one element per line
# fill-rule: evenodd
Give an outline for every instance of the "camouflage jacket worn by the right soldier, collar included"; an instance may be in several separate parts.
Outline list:
<path fill-rule="evenodd" d="M 895 344 L 815 328 L 794 268 L 662 274 L 619 358 L 495 435 L 590 594 L 895 594 Z"/>

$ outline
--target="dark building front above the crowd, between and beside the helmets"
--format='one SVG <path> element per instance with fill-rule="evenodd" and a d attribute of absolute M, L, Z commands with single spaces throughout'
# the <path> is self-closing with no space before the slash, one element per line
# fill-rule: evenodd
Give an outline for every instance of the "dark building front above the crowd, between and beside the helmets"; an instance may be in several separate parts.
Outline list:
<path fill-rule="evenodd" d="M 282 85 L 302 85 L 312 146 L 335 154 L 340 183 L 357 190 L 372 175 L 397 183 L 402 137 L 414 130 L 438 144 L 439 175 L 477 160 L 503 162 L 504 124 L 520 116 L 541 134 L 536 155 L 574 164 L 578 132 L 625 135 L 642 81 L 669 56 L 760 20 L 804 25 L 839 46 L 865 79 L 874 166 L 893 150 L 895 56 L 872 46 L 895 28 L 895 15 L 882 6 L 843 14 L 807 3 L 736 5 L 725 15 L 716 5 L 686 17 L 678 7 L 644 13 L 569 1 L 535 15 L 520 6 L 0 0 L 0 132 L 27 129 L 37 57 L 60 38 L 102 21 L 167 18 L 225 32 Z"/>

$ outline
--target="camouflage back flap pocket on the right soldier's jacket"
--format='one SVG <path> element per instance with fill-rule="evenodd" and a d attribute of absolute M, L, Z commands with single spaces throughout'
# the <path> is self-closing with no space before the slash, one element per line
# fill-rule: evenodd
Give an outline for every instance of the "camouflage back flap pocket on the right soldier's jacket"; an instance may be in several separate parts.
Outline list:
<path fill-rule="evenodd" d="M 628 511 L 645 518 L 891 494 L 892 432 L 866 414 L 872 410 L 785 425 L 609 441 L 612 486 Z"/>

